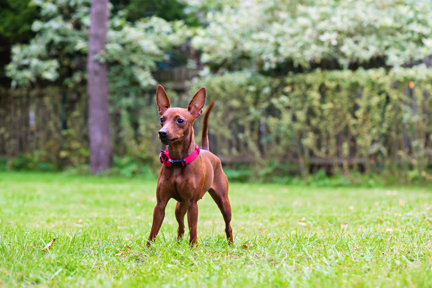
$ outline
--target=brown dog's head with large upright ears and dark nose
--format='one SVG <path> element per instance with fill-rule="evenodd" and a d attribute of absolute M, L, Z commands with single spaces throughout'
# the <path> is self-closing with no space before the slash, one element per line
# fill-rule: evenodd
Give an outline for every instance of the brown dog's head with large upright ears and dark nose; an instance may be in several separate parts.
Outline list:
<path fill-rule="evenodd" d="M 192 125 L 202 113 L 206 103 L 206 88 L 200 88 L 192 97 L 187 109 L 172 108 L 164 88 L 158 85 L 156 91 L 156 104 L 159 107 L 159 139 L 162 144 L 169 145 L 181 141 L 183 137 L 190 135 Z"/>

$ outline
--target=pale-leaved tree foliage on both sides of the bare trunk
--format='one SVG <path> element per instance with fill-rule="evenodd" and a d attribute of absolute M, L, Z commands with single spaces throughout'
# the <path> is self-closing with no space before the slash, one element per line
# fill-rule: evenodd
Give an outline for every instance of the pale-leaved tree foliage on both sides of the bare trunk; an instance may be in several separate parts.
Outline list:
<path fill-rule="evenodd" d="M 41 21 L 29 44 L 12 48 L 12 61 L 6 67 L 12 86 L 29 85 L 38 80 L 62 81 L 73 87 L 86 77 L 86 57 L 90 25 L 89 0 L 33 0 L 40 6 Z M 111 15 L 105 49 L 98 53 L 108 63 L 109 84 L 124 87 L 124 81 L 147 88 L 156 82 L 150 73 L 165 51 L 183 43 L 191 32 L 181 21 L 166 22 L 158 17 L 127 22 L 125 11 Z M 111 91 L 111 89 L 110 89 Z M 113 91 L 114 93 L 116 91 Z"/>

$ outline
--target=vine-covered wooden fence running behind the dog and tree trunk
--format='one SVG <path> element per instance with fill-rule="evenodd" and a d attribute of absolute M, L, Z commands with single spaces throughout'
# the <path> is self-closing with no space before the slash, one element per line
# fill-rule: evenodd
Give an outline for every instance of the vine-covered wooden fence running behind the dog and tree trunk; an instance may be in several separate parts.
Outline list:
<path fill-rule="evenodd" d="M 202 86 L 208 99 L 216 100 L 210 150 L 225 165 L 303 177 L 320 168 L 329 173 L 393 169 L 404 171 L 404 177 L 430 169 L 429 69 L 316 71 L 282 78 L 238 72 L 200 79 L 191 90 L 184 84 L 176 90 L 172 83 L 190 80 L 194 71 L 157 73 L 161 82 L 173 80 L 172 106 L 186 107 Z M 158 166 L 163 146 L 157 139 L 155 94 L 143 92 L 134 101 L 112 109 L 114 153 Z M 197 143 L 201 121 L 194 125 Z M 0 156 L 26 154 L 34 163 L 61 169 L 87 163 L 87 147 L 85 87 L 0 90 Z"/>

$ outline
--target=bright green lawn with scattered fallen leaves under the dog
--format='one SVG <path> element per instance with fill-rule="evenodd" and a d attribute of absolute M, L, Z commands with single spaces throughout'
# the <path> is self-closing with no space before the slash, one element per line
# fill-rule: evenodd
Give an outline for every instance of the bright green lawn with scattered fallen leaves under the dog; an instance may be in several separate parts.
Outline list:
<path fill-rule="evenodd" d="M 0 286 L 432 286 L 428 188 L 231 183 L 234 245 L 206 194 L 197 248 L 175 241 L 172 200 L 147 249 L 155 189 L 139 178 L 0 173 Z"/>

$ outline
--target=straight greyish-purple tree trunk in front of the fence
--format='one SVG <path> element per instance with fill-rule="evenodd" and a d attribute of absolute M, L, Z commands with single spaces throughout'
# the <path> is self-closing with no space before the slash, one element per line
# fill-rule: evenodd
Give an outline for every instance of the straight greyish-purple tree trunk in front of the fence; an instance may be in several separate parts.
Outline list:
<path fill-rule="evenodd" d="M 95 60 L 105 48 L 108 30 L 108 0 L 92 0 L 87 72 L 89 94 L 89 142 L 92 173 L 108 169 L 111 165 L 109 132 L 108 79 L 106 63 Z"/>

